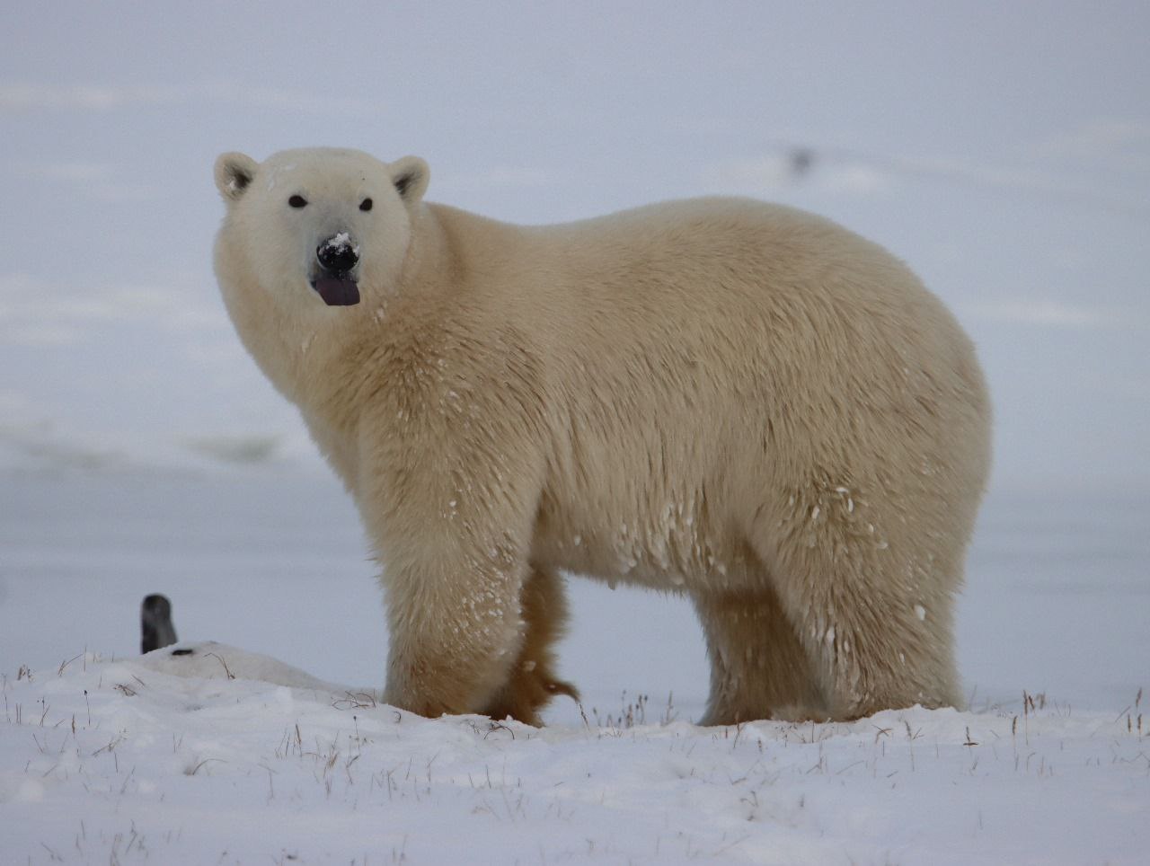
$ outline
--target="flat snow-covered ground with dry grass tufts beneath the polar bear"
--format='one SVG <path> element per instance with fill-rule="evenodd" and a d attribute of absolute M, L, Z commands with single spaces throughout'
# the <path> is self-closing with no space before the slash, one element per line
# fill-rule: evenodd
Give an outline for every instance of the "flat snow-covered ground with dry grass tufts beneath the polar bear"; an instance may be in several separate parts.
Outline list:
<path fill-rule="evenodd" d="M 573 580 L 584 704 L 536 730 L 375 702 L 379 591 L 328 478 L 0 485 L 0 863 L 1150 858 L 1140 491 L 991 495 L 959 612 L 967 712 L 697 728 L 687 605 Z M 155 591 L 192 654 L 136 654 Z"/>

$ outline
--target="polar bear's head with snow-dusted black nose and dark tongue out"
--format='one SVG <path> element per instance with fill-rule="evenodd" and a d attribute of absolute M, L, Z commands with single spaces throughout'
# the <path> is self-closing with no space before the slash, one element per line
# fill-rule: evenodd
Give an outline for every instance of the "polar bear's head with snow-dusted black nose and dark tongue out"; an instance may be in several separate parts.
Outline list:
<path fill-rule="evenodd" d="M 224 153 L 215 182 L 228 206 L 216 273 L 228 291 L 253 283 L 290 309 L 344 307 L 399 278 L 427 190 L 417 156 L 381 162 L 313 147 L 256 162 Z"/>

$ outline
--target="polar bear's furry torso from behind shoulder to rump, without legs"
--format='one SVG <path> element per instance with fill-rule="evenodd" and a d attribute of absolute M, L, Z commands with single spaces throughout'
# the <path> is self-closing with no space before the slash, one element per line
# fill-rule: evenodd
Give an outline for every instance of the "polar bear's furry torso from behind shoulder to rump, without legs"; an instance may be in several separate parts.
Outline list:
<path fill-rule="evenodd" d="M 914 531 L 968 536 L 989 469 L 982 374 L 882 247 L 749 199 L 531 228 L 431 207 L 463 291 L 539 358 L 538 559 L 737 585 L 744 538 L 826 520 L 828 495 L 872 524 L 881 508 L 891 538 L 912 513 Z"/>

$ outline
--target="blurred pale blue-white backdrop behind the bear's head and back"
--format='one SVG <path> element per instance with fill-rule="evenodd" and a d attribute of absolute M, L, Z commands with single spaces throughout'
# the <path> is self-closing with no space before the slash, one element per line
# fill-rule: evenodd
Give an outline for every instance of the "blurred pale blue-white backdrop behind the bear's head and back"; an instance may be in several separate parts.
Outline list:
<path fill-rule="evenodd" d="M 826 214 L 974 336 L 997 484 L 1144 484 L 1148 32 L 1144 0 L 9 5 L 0 466 L 314 468 L 218 300 L 212 164 L 343 145 L 513 221 Z"/>

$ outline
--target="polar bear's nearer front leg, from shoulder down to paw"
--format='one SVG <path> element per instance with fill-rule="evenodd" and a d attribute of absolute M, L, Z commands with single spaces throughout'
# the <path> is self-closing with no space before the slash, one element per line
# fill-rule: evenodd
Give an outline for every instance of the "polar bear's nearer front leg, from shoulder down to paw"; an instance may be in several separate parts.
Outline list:
<path fill-rule="evenodd" d="M 383 565 L 384 699 L 428 716 L 484 712 L 511 676 L 547 467 L 528 337 L 440 313 L 373 380 L 354 485 Z"/>

